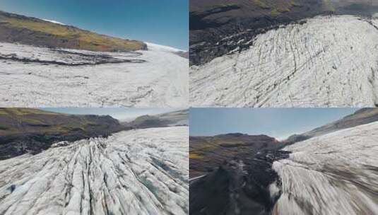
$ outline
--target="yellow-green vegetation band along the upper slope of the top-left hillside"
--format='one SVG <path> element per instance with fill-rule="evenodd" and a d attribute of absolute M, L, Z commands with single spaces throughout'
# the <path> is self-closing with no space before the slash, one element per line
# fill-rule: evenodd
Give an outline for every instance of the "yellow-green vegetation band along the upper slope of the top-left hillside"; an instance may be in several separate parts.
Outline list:
<path fill-rule="evenodd" d="M 28 29 L 35 32 L 59 37 L 60 40 L 73 41 L 76 49 L 114 52 L 131 51 L 143 49 L 143 42 L 134 40 L 123 40 L 116 37 L 99 35 L 87 30 L 73 28 L 71 26 L 59 25 L 37 19 L 4 18 L 1 23 L 10 28 Z"/>

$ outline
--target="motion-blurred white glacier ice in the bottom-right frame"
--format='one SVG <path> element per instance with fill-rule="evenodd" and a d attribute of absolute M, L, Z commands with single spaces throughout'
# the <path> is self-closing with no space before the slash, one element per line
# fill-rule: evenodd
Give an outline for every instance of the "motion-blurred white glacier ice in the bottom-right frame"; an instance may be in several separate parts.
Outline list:
<path fill-rule="evenodd" d="M 283 186 L 273 214 L 378 214 L 378 122 L 283 150 L 293 153 L 273 163 Z"/>

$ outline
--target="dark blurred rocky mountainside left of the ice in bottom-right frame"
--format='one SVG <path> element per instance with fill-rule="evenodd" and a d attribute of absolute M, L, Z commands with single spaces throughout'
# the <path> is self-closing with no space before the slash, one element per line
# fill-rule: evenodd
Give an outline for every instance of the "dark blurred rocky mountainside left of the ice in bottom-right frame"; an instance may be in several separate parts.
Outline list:
<path fill-rule="evenodd" d="M 190 214 L 268 214 L 273 161 L 288 158 L 266 135 L 189 137 Z"/>

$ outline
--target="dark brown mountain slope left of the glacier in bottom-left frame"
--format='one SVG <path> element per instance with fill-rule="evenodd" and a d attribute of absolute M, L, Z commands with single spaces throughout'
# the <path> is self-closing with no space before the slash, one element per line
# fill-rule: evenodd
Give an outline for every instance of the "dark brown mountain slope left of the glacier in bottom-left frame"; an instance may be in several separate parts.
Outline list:
<path fill-rule="evenodd" d="M 0 109 L 0 160 L 40 153 L 59 141 L 108 136 L 122 129 L 110 116 L 66 115 L 28 108 Z"/>

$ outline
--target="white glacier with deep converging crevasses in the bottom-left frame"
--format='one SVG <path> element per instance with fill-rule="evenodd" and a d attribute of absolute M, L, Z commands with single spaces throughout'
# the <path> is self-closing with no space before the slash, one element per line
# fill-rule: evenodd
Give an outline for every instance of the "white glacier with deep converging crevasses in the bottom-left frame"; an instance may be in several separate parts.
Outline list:
<path fill-rule="evenodd" d="M 0 161 L 0 214 L 188 214 L 188 135 L 133 130 Z"/>

